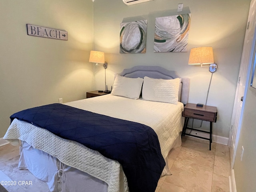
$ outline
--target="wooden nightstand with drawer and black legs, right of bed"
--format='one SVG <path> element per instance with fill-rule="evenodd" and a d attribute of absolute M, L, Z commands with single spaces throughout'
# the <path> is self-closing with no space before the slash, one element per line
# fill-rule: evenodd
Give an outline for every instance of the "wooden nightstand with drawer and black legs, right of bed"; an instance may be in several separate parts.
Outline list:
<path fill-rule="evenodd" d="M 211 150 L 212 122 L 216 122 L 216 120 L 217 120 L 217 108 L 214 107 L 214 106 L 207 106 L 207 105 L 204 105 L 203 107 L 197 107 L 196 104 L 188 103 L 184 107 L 184 111 L 183 111 L 182 116 L 185 117 L 185 122 L 184 122 L 183 130 L 182 130 L 182 135 L 183 136 L 189 135 L 189 136 L 209 140 L 210 141 L 210 150 Z M 198 130 L 198 129 L 194 129 L 194 128 L 188 128 L 187 125 L 188 125 L 188 119 L 189 118 L 199 119 L 199 120 L 210 122 L 210 132 L 204 131 L 204 130 Z M 188 133 L 186 133 L 186 129 L 195 130 L 195 131 L 204 132 L 204 133 L 209 133 L 210 138 L 204 138 L 204 137 L 201 137 L 201 136 L 188 134 Z"/>

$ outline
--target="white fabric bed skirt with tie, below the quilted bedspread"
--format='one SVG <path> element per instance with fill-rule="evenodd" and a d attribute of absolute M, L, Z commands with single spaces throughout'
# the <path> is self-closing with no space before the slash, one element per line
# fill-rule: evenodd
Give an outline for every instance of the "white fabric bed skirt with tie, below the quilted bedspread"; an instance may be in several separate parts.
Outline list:
<path fill-rule="evenodd" d="M 29 170 L 51 192 L 107 192 L 108 184 L 21 141 L 18 169 Z"/>

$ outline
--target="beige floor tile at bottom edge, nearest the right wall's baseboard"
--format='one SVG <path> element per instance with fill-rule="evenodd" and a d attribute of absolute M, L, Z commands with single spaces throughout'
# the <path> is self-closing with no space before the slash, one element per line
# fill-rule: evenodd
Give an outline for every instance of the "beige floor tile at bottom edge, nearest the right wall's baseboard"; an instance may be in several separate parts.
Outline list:
<path fill-rule="evenodd" d="M 228 177 L 213 174 L 212 192 L 229 192 Z"/>

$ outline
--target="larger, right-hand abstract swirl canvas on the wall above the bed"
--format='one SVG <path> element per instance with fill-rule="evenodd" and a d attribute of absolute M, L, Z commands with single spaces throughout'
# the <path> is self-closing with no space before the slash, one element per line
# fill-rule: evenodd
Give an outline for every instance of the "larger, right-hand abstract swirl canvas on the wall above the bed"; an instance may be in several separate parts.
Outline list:
<path fill-rule="evenodd" d="M 191 14 L 156 18 L 154 52 L 187 52 Z"/>

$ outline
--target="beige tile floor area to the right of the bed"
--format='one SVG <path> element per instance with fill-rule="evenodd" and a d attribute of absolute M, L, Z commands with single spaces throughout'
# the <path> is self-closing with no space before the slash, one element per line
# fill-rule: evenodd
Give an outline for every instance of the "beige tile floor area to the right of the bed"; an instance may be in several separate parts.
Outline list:
<path fill-rule="evenodd" d="M 228 192 L 228 146 L 184 137 L 168 155 L 172 175 L 160 178 L 156 192 Z"/>

